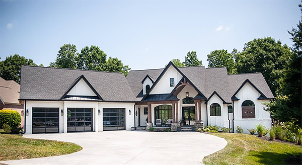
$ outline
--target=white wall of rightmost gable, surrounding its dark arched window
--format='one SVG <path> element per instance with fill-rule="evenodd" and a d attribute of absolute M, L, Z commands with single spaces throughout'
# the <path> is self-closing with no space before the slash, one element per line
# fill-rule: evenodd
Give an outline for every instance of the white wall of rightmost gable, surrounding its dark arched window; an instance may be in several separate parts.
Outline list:
<path fill-rule="evenodd" d="M 260 93 L 255 90 L 249 83 L 246 83 L 243 88 L 237 93 L 236 97 L 239 101 L 234 101 L 234 128 L 241 126 L 244 133 L 249 133 L 247 129 L 256 128 L 257 124 L 263 124 L 266 128 L 271 128 L 270 113 L 263 110 L 265 100 L 257 100 Z M 255 118 L 243 119 L 241 105 L 244 101 L 251 100 L 255 104 Z M 235 131 L 236 132 L 236 131 Z"/>

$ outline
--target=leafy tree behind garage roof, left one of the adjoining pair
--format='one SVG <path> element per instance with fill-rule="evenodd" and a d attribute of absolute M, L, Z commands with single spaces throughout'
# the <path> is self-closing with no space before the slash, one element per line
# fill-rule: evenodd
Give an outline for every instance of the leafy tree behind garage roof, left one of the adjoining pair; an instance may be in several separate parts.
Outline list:
<path fill-rule="evenodd" d="M 50 62 L 50 67 L 76 68 L 77 47 L 73 44 L 64 44 L 60 47 L 55 62 Z"/>

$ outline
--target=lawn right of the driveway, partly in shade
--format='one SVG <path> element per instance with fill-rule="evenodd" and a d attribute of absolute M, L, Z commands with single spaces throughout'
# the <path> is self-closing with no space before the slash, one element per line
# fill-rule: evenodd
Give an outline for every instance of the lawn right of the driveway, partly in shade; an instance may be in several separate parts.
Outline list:
<path fill-rule="evenodd" d="M 205 156 L 204 164 L 301 164 L 300 145 L 261 140 L 253 135 L 211 133 L 228 141 L 222 150 Z"/>

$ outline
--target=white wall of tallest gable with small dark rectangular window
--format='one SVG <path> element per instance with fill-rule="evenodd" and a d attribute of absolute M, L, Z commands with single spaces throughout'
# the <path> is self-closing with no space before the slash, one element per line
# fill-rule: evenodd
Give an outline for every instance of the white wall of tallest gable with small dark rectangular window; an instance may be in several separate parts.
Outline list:
<path fill-rule="evenodd" d="M 170 94 L 175 88 L 170 87 L 170 78 L 174 78 L 174 85 L 176 86 L 182 77 L 173 66 L 170 66 L 150 94 Z"/>

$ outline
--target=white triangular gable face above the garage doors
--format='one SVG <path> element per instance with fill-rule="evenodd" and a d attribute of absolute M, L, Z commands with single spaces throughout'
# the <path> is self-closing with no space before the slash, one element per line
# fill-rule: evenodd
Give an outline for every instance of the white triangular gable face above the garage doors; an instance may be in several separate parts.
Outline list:
<path fill-rule="evenodd" d="M 90 89 L 86 82 L 81 79 L 77 85 L 75 85 L 67 95 L 82 95 L 82 96 L 96 96 L 96 94 Z"/>

